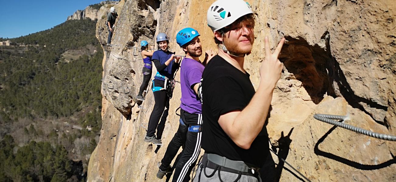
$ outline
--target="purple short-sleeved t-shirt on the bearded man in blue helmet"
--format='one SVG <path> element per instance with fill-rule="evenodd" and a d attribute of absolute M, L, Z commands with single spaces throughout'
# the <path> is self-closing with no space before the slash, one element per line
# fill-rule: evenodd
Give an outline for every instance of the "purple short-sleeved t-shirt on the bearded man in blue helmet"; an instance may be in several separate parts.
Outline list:
<path fill-rule="evenodd" d="M 181 84 L 181 104 L 180 108 L 192 114 L 201 114 L 202 105 L 192 87 L 194 84 L 201 82 L 202 72 L 204 71 L 202 63 L 191 59 L 184 58 L 180 68 Z"/>

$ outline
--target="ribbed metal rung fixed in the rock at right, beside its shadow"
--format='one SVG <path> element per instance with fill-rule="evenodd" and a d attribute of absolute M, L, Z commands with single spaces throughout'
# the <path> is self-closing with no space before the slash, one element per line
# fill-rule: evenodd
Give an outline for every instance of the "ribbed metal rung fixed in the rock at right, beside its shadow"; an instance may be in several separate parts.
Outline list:
<path fill-rule="evenodd" d="M 328 115 L 328 114 L 315 114 L 314 118 L 316 120 L 325 122 L 325 123 L 329 123 L 329 124 L 333 124 L 335 126 L 339 126 L 341 128 L 345 128 L 347 130 L 351 130 L 360 134 L 364 134 L 367 136 L 371 136 L 371 137 L 375 137 L 378 139 L 383 139 L 383 140 L 388 140 L 388 141 L 396 141 L 396 136 L 391 136 L 391 135 L 386 135 L 386 134 L 379 134 L 379 133 L 375 133 L 375 132 L 371 132 L 369 130 L 365 130 L 363 128 L 358 128 L 356 126 L 352 126 L 346 123 L 342 123 L 342 122 L 337 122 L 334 121 L 333 119 L 337 119 L 337 120 L 348 120 L 348 116 L 340 116 L 340 115 Z"/>

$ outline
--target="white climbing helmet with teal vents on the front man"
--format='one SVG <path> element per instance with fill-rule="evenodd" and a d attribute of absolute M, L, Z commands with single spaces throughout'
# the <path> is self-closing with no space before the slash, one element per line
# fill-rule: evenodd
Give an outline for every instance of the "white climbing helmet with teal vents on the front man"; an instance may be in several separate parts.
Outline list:
<path fill-rule="evenodd" d="M 238 18 L 253 13 L 244 0 L 217 0 L 208 9 L 206 20 L 213 32 L 232 24 Z"/>

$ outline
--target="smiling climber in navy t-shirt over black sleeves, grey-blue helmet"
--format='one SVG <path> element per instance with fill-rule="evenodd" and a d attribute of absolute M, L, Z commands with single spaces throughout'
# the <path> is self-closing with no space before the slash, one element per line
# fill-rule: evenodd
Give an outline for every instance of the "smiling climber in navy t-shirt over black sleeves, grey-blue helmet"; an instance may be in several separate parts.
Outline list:
<path fill-rule="evenodd" d="M 166 85 L 169 84 L 170 80 L 173 80 L 175 71 L 179 69 L 181 57 L 175 56 L 174 53 L 168 50 L 169 40 L 165 33 L 158 33 L 156 42 L 158 44 L 158 50 L 152 54 L 152 62 L 157 68 L 157 73 L 154 79 L 152 79 L 151 86 L 155 104 L 148 120 L 147 134 L 144 141 L 162 145 L 161 137 L 165 127 L 166 117 L 168 117 L 170 98 Z M 158 124 L 158 122 L 160 123 Z M 155 130 L 157 130 L 157 136 L 155 136 Z"/>

